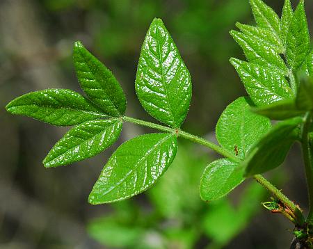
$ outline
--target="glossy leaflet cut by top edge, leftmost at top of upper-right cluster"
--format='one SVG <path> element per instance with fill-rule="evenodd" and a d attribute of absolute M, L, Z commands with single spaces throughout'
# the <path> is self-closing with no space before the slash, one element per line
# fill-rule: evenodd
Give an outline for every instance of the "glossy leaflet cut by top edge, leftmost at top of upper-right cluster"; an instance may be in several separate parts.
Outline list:
<path fill-rule="evenodd" d="M 275 11 L 262 0 L 250 0 L 250 4 L 257 25 L 271 30 L 277 40 L 280 40 L 280 19 Z"/>

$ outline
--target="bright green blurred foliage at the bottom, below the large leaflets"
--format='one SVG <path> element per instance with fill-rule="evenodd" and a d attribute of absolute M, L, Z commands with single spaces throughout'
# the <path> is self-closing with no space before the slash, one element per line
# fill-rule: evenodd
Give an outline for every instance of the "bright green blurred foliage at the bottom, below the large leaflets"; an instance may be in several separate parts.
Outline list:
<path fill-rule="evenodd" d="M 198 147 L 180 145 L 166 174 L 148 191 L 149 207 L 134 200 L 113 204 L 111 214 L 90 221 L 90 236 L 116 248 L 227 245 L 260 210 L 266 191 L 251 182 L 236 205 L 227 198 L 202 202 L 198 186 L 208 159 Z"/>

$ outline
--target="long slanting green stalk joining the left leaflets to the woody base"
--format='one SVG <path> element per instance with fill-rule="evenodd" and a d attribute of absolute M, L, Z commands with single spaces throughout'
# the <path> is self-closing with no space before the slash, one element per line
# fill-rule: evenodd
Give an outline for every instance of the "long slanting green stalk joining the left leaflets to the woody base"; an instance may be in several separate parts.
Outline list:
<path fill-rule="evenodd" d="M 145 127 L 158 129 L 160 131 L 166 131 L 166 132 L 170 132 L 172 134 L 177 134 L 177 136 L 180 136 L 182 138 L 186 138 L 186 139 L 191 140 L 195 143 L 199 143 L 200 145 L 204 145 L 206 147 L 209 147 L 211 150 L 214 150 L 218 154 L 225 156 L 226 158 L 232 159 L 233 161 L 236 161 L 238 163 L 241 161 L 237 156 L 234 156 L 233 154 L 231 154 L 230 152 L 225 150 L 223 147 L 220 147 L 220 146 L 216 145 L 215 143 L 212 143 L 208 140 L 205 140 L 204 138 L 200 138 L 198 136 L 188 134 L 186 131 L 182 131 L 181 129 L 174 129 L 174 128 L 170 128 L 170 127 L 165 127 L 165 126 L 160 125 L 160 124 L 154 124 L 152 122 L 138 120 L 136 118 L 130 118 L 130 117 L 126 117 L 126 116 L 122 117 L 122 120 L 124 120 L 126 122 L 131 122 L 134 124 L 139 124 L 139 125 L 142 125 Z M 273 195 L 275 195 L 275 197 L 278 198 L 292 212 L 294 212 L 296 214 L 299 213 L 298 216 L 302 216 L 300 210 L 298 209 L 298 207 L 296 207 L 296 204 L 294 204 L 294 202 L 291 202 L 291 200 L 289 200 L 286 195 L 284 195 L 280 190 L 278 190 L 278 188 L 273 186 L 273 184 L 271 184 L 271 182 L 268 182 L 268 180 L 266 180 L 264 177 L 262 177 L 262 175 L 255 175 L 254 178 L 257 182 L 259 182 L 259 184 L 261 184 L 266 189 L 268 189 L 268 191 L 273 193 Z"/>

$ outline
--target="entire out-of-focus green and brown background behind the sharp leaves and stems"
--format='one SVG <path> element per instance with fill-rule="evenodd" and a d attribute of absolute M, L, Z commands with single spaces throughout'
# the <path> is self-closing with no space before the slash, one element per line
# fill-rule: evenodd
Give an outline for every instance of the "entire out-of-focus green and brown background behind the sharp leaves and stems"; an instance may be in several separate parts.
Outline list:
<path fill-rule="evenodd" d="M 266 3 L 280 15 L 283 1 Z M 306 1 L 312 33 L 313 1 Z M 123 141 L 148 129 L 125 124 L 118 144 L 72 166 L 42 159 L 67 128 L 6 113 L 17 95 L 45 88 L 79 90 L 72 44 L 81 40 L 109 67 L 127 95 L 127 115 L 152 120 L 134 92 L 136 65 L 150 22 L 160 17 L 193 79 L 183 129 L 214 139 L 219 114 L 246 95 L 230 65 L 243 53 L 229 31 L 252 24 L 248 0 L 0 0 L 0 248 L 288 248 L 292 225 L 261 202 L 270 195 L 247 181 L 228 198 L 204 203 L 200 175 L 215 154 L 179 140 L 177 159 L 150 191 L 118 204 L 91 206 L 88 193 Z M 307 207 L 300 150 L 268 175 Z"/>

